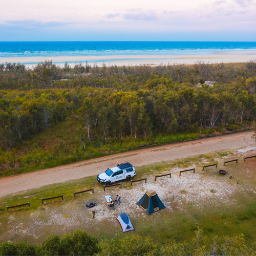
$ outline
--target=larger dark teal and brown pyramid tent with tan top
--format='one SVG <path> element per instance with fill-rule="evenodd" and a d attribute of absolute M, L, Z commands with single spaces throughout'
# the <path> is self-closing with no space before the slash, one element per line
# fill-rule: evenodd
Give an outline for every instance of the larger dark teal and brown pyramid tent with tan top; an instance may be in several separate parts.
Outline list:
<path fill-rule="evenodd" d="M 139 205 L 148 215 L 165 208 L 154 190 L 147 190 L 137 205 Z"/>

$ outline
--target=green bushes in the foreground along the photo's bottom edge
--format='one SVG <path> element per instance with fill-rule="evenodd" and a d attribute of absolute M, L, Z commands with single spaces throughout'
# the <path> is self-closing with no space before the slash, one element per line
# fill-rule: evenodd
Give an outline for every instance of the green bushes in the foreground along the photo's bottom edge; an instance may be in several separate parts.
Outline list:
<path fill-rule="evenodd" d="M 98 242 L 82 230 L 74 230 L 62 238 L 48 237 L 39 246 L 25 242 L 0 244 L 0 255 L 255 255 L 256 244 L 246 246 L 243 234 L 229 237 L 212 237 L 207 240 L 203 230 L 195 230 L 193 240 L 176 243 L 165 239 L 161 243 L 150 237 L 135 234 L 118 241 Z"/>

